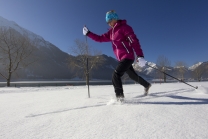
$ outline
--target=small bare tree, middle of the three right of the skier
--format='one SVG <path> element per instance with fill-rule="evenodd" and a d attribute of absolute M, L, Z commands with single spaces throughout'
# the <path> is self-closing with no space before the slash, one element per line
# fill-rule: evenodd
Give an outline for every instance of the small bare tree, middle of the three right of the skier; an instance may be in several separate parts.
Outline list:
<path fill-rule="evenodd" d="M 183 81 L 184 75 L 187 71 L 187 64 L 183 61 L 176 62 L 176 68 L 178 69 L 179 78 Z"/>

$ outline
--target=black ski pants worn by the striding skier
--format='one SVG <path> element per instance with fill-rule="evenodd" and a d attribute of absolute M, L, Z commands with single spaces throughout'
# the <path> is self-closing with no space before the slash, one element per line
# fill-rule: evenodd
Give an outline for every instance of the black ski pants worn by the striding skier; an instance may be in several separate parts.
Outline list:
<path fill-rule="evenodd" d="M 117 97 L 119 96 L 124 97 L 121 77 L 124 75 L 125 72 L 128 74 L 128 76 L 132 80 L 141 84 L 145 88 L 148 87 L 150 84 L 146 80 L 144 80 L 142 77 L 137 75 L 137 73 L 134 71 L 133 66 L 132 66 L 133 62 L 134 60 L 131 60 L 131 59 L 123 59 L 119 61 L 115 71 L 113 72 L 112 83 L 113 83 Z"/>

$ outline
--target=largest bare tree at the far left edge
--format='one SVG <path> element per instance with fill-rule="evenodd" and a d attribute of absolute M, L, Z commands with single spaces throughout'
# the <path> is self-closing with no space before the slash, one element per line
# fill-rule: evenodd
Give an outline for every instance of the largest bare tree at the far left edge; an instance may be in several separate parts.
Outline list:
<path fill-rule="evenodd" d="M 7 86 L 10 86 L 12 74 L 16 70 L 34 62 L 28 60 L 35 48 L 34 42 L 30 41 L 26 33 L 0 28 L 0 62 L 3 67 L 0 75 L 7 80 Z"/>

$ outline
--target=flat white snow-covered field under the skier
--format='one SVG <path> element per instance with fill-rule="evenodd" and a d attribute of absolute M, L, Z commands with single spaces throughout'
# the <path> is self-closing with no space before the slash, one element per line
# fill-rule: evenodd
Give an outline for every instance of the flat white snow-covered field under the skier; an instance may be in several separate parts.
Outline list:
<path fill-rule="evenodd" d="M 0 139 L 207 139 L 208 82 L 0 88 Z"/>

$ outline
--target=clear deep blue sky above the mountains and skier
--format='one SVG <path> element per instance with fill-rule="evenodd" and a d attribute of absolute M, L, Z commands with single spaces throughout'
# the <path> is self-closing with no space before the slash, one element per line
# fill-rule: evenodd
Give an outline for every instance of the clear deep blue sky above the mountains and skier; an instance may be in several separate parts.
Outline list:
<path fill-rule="evenodd" d="M 0 0 L 0 16 L 70 53 L 85 40 L 83 25 L 107 32 L 105 13 L 114 9 L 140 40 L 147 61 L 167 57 L 172 65 L 208 61 L 208 0 Z M 88 43 L 115 58 L 111 43 Z"/>

